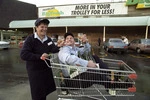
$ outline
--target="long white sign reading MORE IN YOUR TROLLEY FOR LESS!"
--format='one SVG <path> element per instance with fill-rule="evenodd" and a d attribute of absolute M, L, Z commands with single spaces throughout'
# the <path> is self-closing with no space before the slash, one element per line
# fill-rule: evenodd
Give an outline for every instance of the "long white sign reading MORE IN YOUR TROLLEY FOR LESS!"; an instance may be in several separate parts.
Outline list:
<path fill-rule="evenodd" d="M 124 3 L 80 4 L 53 7 L 39 7 L 39 18 L 60 16 L 93 16 L 127 14 Z"/>

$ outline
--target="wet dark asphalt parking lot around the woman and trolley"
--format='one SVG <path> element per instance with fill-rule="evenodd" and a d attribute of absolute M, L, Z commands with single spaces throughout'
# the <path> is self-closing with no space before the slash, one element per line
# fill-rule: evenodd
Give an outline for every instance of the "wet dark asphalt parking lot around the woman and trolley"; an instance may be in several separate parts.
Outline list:
<path fill-rule="evenodd" d="M 19 48 L 0 50 L 0 100 L 31 100 L 25 62 L 20 59 L 19 52 Z M 127 100 L 149 100 L 150 54 L 136 54 L 132 51 L 128 54 L 103 53 L 97 47 L 94 47 L 94 52 L 101 58 L 123 60 L 137 72 L 137 92 L 135 97 Z M 56 91 L 47 100 L 57 100 Z"/>

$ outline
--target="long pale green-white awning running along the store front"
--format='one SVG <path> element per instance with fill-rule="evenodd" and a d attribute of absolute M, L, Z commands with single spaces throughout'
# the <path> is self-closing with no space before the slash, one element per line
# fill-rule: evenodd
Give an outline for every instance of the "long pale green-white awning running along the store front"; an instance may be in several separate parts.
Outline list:
<path fill-rule="evenodd" d="M 149 26 L 150 16 L 140 17 L 108 17 L 108 18 L 65 18 L 49 19 L 49 27 L 79 26 Z M 32 28 L 35 20 L 11 21 L 9 28 Z"/>

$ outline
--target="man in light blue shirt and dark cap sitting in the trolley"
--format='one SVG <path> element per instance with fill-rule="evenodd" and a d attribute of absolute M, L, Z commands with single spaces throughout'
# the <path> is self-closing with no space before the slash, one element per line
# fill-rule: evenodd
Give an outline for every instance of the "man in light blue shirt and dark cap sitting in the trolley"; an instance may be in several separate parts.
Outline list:
<path fill-rule="evenodd" d="M 80 52 L 83 54 L 84 52 L 91 51 L 91 45 L 88 43 L 88 39 L 84 34 L 82 36 L 82 42 L 84 43 L 84 47 L 79 48 L 75 46 L 74 35 L 72 33 L 65 33 L 64 35 L 64 42 L 65 46 L 63 46 L 59 53 L 58 58 L 60 63 L 65 65 L 72 65 L 72 66 L 81 66 L 84 68 L 88 68 L 88 70 L 83 71 L 82 73 L 76 75 L 70 80 L 70 74 L 67 70 L 62 69 L 63 77 L 65 78 L 66 87 L 75 87 L 75 88 L 87 88 L 92 86 L 93 84 L 101 84 L 104 85 L 105 88 L 111 88 L 120 86 L 119 83 L 111 83 L 109 75 L 106 74 L 96 74 L 96 73 L 89 73 L 88 71 L 94 71 L 93 69 L 97 69 L 97 64 L 99 63 L 99 67 L 103 69 L 108 69 L 108 66 L 97 56 L 93 56 L 95 62 L 92 60 L 85 60 L 78 57 L 78 53 Z M 90 69 L 91 68 L 91 69 Z M 76 80 L 77 79 L 77 80 Z M 80 81 L 78 79 L 81 79 Z M 83 79 L 83 80 L 82 80 Z M 88 81 L 92 80 L 92 81 Z M 96 81 L 99 80 L 99 81 Z M 123 84 L 122 87 L 126 85 Z M 131 86 L 131 85 L 130 85 Z"/>

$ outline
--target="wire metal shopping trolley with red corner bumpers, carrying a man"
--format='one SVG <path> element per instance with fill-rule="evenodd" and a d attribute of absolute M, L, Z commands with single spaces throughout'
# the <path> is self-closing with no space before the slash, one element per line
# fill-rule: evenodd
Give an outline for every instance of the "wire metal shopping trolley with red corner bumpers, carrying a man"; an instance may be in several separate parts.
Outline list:
<path fill-rule="evenodd" d="M 94 60 L 91 55 L 85 55 L 89 57 L 82 58 Z M 122 60 L 101 59 L 109 69 L 60 64 L 57 54 L 51 54 L 50 59 L 43 59 L 53 70 L 58 100 L 128 100 L 133 97 L 136 92 L 136 72 Z M 64 77 L 62 71 L 67 71 L 70 76 Z M 83 73 L 86 73 L 84 78 L 80 76 Z M 88 74 L 93 76 L 89 78 Z M 109 80 L 101 80 L 101 76 Z"/>

